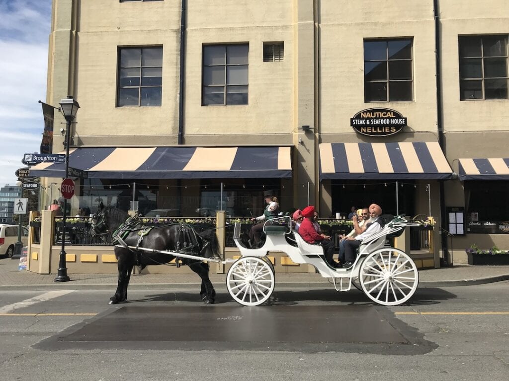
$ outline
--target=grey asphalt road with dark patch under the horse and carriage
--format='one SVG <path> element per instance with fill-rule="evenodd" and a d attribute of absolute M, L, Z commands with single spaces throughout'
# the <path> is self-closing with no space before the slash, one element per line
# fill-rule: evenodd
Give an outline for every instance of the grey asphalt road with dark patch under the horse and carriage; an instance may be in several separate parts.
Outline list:
<path fill-rule="evenodd" d="M 507 380 L 509 282 L 419 289 L 276 288 L 242 307 L 193 290 L 0 291 L 0 380 Z"/>

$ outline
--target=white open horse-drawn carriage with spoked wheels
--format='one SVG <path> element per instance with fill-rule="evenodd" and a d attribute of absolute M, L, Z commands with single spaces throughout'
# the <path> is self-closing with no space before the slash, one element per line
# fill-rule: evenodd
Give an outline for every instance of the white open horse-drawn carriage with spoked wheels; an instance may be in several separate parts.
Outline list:
<path fill-rule="evenodd" d="M 282 225 L 265 224 L 265 244 L 250 249 L 240 240 L 240 224 L 235 224 L 234 240 L 241 258 L 235 261 L 227 274 L 228 292 L 238 303 L 256 306 L 266 302 L 275 285 L 274 267 L 267 254 L 285 252 L 298 264 L 314 266 L 324 278 L 330 279 L 336 291 L 349 291 L 352 284 L 371 300 L 385 306 L 408 301 L 417 289 L 419 273 L 412 259 L 402 250 L 385 246 L 387 236 L 397 234 L 409 223 L 397 216 L 384 228 L 365 239 L 359 254 L 349 269 L 335 269 L 324 260 L 322 246 L 305 242 L 292 231 L 290 217 L 279 217 Z"/>

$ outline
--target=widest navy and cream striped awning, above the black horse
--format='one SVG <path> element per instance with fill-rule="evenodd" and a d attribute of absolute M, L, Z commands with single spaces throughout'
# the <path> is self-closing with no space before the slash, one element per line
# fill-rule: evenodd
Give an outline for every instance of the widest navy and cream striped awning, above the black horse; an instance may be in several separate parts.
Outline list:
<path fill-rule="evenodd" d="M 89 178 L 292 177 L 291 147 L 83 147 L 70 150 L 69 166 Z M 57 163 L 30 170 L 42 177 L 64 172 Z"/>

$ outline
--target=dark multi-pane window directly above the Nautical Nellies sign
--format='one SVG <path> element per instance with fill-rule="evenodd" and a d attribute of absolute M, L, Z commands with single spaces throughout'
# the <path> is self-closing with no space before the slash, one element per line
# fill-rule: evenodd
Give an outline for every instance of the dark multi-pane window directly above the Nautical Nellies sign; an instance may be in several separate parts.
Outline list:
<path fill-rule="evenodd" d="M 412 39 L 364 40 L 364 102 L 413 100 Z"/>

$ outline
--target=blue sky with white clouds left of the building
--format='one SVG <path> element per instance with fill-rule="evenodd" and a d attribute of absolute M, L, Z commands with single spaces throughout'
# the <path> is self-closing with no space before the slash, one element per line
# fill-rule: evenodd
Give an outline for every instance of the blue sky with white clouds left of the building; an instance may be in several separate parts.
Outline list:
<path fill-rule="evenodd" d="M 40 150 L 50 22 L 51 0 L 0 0 L 0 186 Z"/>

